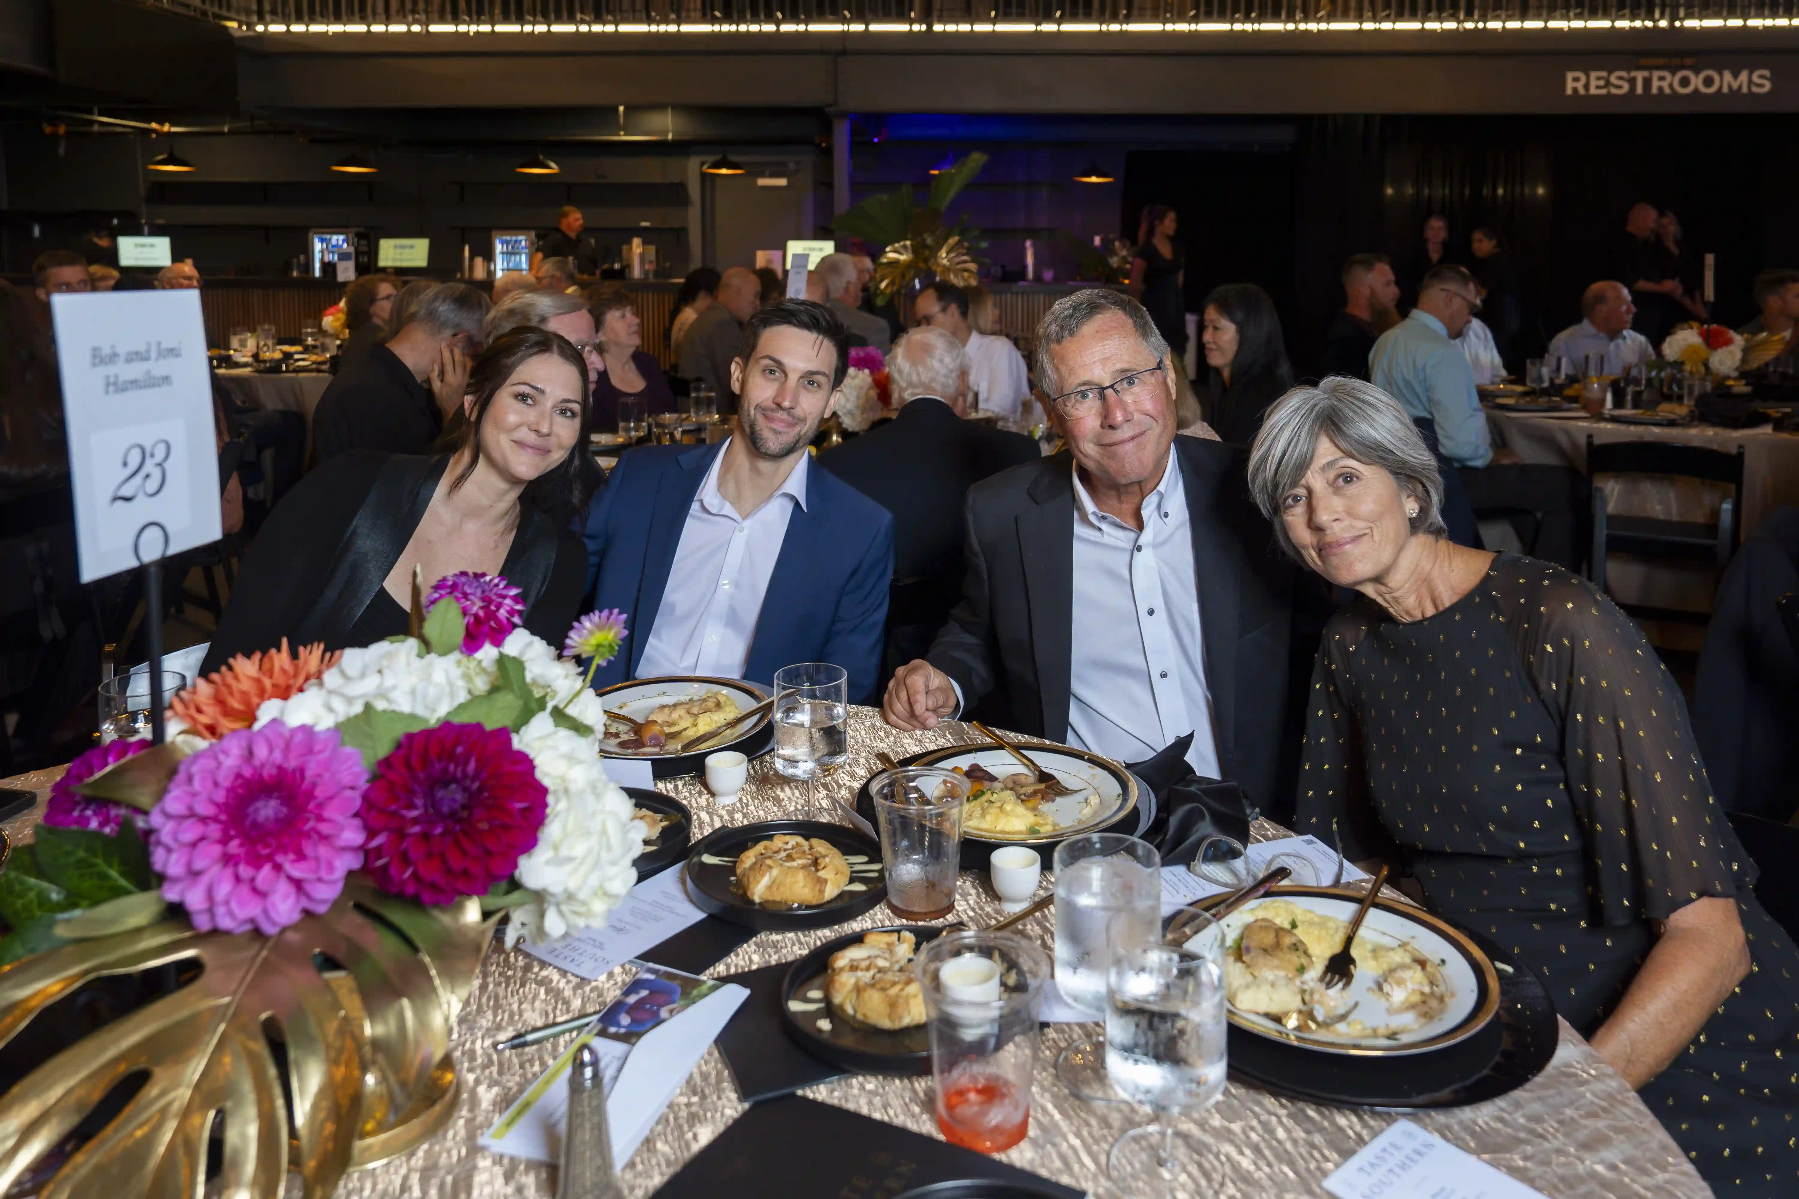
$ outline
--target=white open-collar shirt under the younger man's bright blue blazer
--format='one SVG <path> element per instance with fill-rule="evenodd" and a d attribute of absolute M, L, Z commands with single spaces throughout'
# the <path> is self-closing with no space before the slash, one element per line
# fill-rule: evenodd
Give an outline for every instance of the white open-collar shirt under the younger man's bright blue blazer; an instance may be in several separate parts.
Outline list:
<path fill-rule="evenodd" d="M 801 455 L 786 482 L 759 509 L 739 516 L 718 491 L 718 467 L 729 448 L 727 439 L 687 509 L 669 581 L 637 663 L 639 678 L 743 678 L 788 520 L 795 507 L 806 507 L 811 455 Z"/>

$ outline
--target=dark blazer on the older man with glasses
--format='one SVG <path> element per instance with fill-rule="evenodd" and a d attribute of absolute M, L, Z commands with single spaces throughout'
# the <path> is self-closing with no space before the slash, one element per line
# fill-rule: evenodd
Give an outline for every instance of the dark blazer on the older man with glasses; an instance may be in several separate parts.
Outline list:
<path fill-rule="evenodd" d="M 1177 437 L 1175 453 L 1193 525 L 1218 762 L 1263 811 L 1290 813 L 1304 679 L 1324 611 L 1319 602 L 1295 604 L 1297 568 L 1275 550 L 1249 494 L 1249 451 Z M 926 660 L 955 679 L 964 705 L 1004 688 L 1018 732 L 1067 741 L 1076 617 L 1070 455 L 977 484 L 964 521 L 962 602 Z"/>

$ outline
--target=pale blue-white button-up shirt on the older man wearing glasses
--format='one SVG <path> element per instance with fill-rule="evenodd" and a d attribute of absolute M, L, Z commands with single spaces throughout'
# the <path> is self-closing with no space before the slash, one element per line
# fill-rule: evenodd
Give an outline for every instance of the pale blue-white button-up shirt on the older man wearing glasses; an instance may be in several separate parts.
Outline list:
<path fill-rule="evenodd" d="M 1180 455 L 1142 502 L 1142 532 L 1099 511 L 1074 473 L 1069 744 L 1133 762 L 1193 733 L 1187 764 L 1220 778 Z"/>

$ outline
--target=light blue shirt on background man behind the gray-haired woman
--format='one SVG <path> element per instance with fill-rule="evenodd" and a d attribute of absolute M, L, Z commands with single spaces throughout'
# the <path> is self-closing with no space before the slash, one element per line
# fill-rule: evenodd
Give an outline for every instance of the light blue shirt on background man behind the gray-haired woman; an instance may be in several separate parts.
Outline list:
<path fill-rule="evenodd" d="M 1455 466 L 1486 466 L 1493 440 L 1473 390 L 1473 370 L 1443 322 L 1412 309 L 1374 342 L 1369 381 L 1400 401 L 1409 417 L 1434 421 L 1437 448 Z"/>

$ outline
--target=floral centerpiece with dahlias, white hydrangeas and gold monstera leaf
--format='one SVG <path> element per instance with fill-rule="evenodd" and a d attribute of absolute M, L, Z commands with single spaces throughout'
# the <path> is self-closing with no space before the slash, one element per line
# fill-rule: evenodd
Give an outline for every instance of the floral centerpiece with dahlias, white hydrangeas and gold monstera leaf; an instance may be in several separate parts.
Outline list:
<path fill-rule="evenodd" d="M 500 913 L 507 946 L 554 940 L 630 892 L 644 825 L 601 766 L 590 690 L 622 617 L 583 617 L 558 654 L 493 575 L 448 575 L 421 609 L 412 636 L 234 658 L 175 696 L 166 744 L 76 759 L 0 870 L 0 1046 L 27 1025 L 45 1046 L 0 1097 L 0 1141 L 74 1129 L 113 1062 L 151 1070 L 117 1136 L 50 1154 L 70 1194 L 133 1170 L 142 1194 L 194 1194 L 209 1120 L 189 1104 L 225 1113 L 241 1194 L 277 1194 L 290 1161 L 329 1194 L 448 1120 L 448 1030 Z M 32 1023 L 157 964 L 176 989 L 130 1026 L 63 1046 L 54 1016 Z"/>

